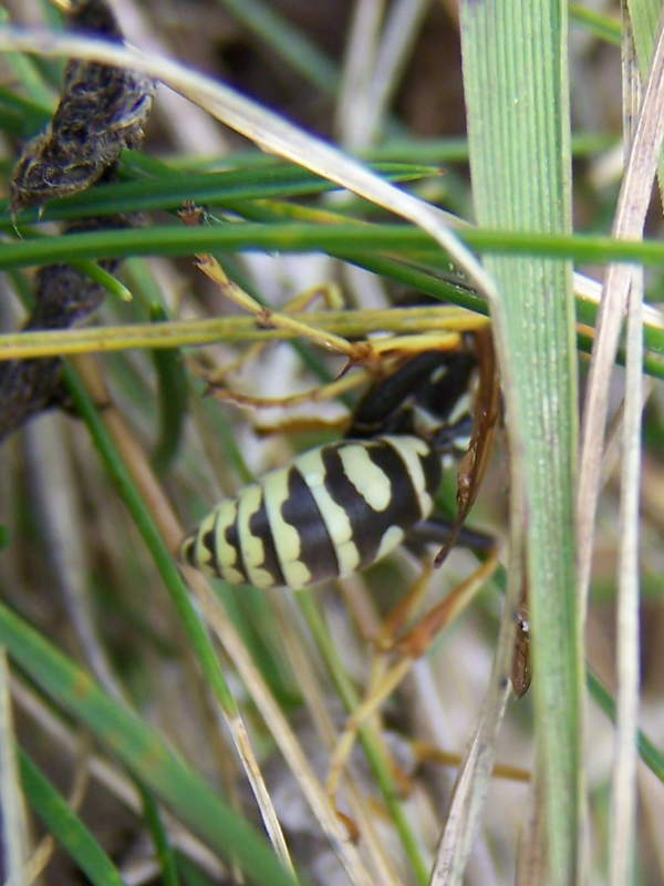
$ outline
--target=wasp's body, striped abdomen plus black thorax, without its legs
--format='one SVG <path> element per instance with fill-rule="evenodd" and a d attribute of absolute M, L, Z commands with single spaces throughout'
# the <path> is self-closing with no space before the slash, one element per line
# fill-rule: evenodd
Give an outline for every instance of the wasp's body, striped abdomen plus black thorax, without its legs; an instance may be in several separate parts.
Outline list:
<path fill-rule="evenodd" d="M 222 501 L 184 540 L 181 558 L 261 588 L 307 587 L 381 559 L 429 517 L 446 456 L 467 443 L 461 404 L 473 370 L 467 353 L 409 361 L 370 389 L 346 439 Z"/>

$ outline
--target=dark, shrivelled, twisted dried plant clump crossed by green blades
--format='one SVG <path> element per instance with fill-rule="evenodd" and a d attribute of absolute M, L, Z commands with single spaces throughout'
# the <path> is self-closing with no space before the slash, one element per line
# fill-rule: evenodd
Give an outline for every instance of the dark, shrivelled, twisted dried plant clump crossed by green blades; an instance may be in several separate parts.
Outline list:
<path fill-rule="evenodd" d="M 71 16 L 74 31 L 110 40 L 122 33 L 105 0 L 85 0 Z M 68 64 L 62 97 L 49 127 L 23 148 L 15 166 L 10 206 L 18 213 L 48 199 L 74 194 L 115 177 L 120 152 L 138 147 L 152 106 L 149 78 L 95 62 Z M 132 227 L 137 216 L 89 218 L 66 228 L 70 234 L 97 228 Z M 113 272 L 117 259 L 100 265 Z M 37 275 L 35 305 L 25 329 L 65 329 L 94 311 L 104 290 L 69 265 L 49 265 Z M 58 403 L 59 358 L 0 364 L 0 440 L 29 418 Z"/>

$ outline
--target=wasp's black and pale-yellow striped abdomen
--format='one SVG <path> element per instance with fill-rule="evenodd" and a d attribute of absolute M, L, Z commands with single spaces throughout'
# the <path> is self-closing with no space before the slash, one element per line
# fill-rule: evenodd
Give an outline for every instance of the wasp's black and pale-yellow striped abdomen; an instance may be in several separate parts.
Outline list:
<path fill-rule="evenodd" d="M 342 440 L 221 502 L 181 557 L 231 585 L 307 587 L 350 575 L 393 550 L 427 517 L 440 455 L 421 437 Z"/>

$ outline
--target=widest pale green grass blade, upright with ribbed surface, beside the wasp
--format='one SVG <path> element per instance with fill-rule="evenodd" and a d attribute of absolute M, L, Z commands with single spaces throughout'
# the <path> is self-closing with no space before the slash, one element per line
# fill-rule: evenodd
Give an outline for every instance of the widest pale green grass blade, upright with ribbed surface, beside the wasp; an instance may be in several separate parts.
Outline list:
<path fill-rule="evenodd" d="M 477 220 L 496 229 L 571 228 L 567 6 L 466 0 L 463 54 Z M 539 773 L 551 884 L 579 876 L 581 639 L 574 600 L 577 461 L 571 266 L 487 257 L 525 518 Z M 513 568 L 513 564 L 512 564 Z"/>

